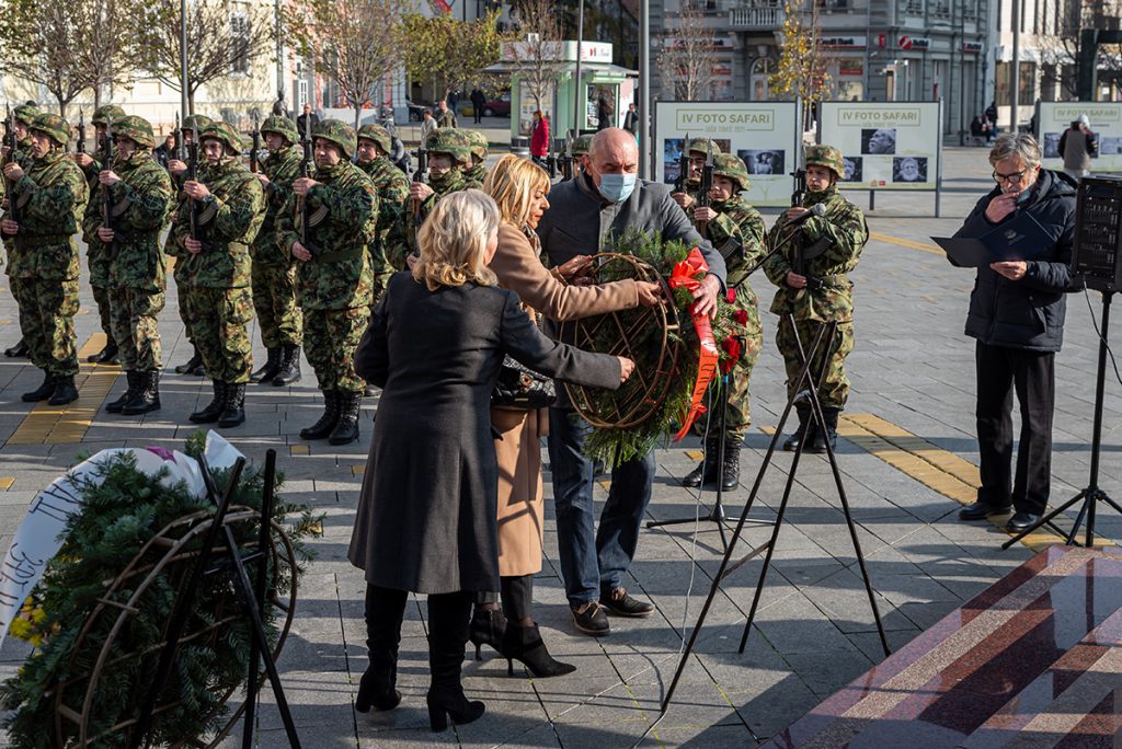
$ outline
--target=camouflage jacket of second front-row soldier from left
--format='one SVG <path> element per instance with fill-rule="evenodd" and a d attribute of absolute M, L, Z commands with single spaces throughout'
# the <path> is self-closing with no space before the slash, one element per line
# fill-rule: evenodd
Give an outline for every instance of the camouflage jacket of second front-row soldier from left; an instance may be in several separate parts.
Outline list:
<path fill-rule="evenodd" d="M 121 181 L 109 187 L 113 229 L 112 251 L 105 252 L 109 286 L 162 292 L 165 280 L 159 232 L 169 216 L 172 178 L 145 150 L 138 150 L 128 159 L 118 157 L 113 172 Z M 100 185 L 98 192 L 91 194 L 90 205 L 96 210 L 86 209 L 83 229 L 90 238 L 88 241 L 103 250 L 104 243 L 98 239 L 98 230 L 102 226 Z M 94 251 L 91 249 L 91 253 Z"/>

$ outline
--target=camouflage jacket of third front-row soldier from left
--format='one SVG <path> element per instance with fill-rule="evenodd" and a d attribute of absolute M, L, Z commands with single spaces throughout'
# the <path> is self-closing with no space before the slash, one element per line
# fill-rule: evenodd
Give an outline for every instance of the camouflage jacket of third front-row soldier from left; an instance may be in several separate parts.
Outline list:
<path fill-rule="evenodd" d="M 199 238 L 203 251 L 191 255 L 183 240 L 191 232 L 191 200 L 180 203 L 172 235 L 181 248 L 183 270 L 176 276 L 188 286 L 240 288 L 249 286 L 249 246 L 265 219 L 265 191 L 237 158 L 208 165 L 200 182 L 210 196 L 197 202 Z"/>

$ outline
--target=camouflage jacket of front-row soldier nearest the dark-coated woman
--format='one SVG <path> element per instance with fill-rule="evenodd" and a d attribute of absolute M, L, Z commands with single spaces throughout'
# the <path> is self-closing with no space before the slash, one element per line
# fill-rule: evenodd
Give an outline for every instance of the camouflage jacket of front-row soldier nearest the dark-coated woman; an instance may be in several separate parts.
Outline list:
<path fill-rule="evenodd" d="M 297 261 L 300 306 L 307 309 L 350 309 L 368 306 L 374 277 L 367 246 L 378 225 L 378 193 L 366 173 L 340 161 L 316 173 L 307 191 L 307 243 L 312 259 Z M 277 241 L 286 252 L 300 240 L 303 212 L 297 195 L 277 219 Z"/>

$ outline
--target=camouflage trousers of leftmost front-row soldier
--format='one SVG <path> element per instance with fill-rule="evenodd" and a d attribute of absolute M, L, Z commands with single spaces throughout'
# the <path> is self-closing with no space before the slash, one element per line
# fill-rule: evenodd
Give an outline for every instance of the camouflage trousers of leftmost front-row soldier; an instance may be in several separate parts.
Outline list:
<path fill-rule="evenodd" d="M 31 363 L 47 374 L 77 374 L 77 279 L 11 278 L 11 293 L 19 305 L 19 330 Z"/>

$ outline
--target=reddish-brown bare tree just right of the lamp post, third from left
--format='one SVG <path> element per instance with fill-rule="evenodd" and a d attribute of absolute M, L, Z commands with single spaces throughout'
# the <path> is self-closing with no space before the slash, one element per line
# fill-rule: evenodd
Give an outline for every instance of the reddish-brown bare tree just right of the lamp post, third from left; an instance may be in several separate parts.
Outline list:
<path fill-rule="evenodd" d="M 288 18 L 301 54 L 355 108 L 356 130 L 375 86 L 402 62 L 403 19 L 413 11 L 412 0 L 312 0 Z"/>

